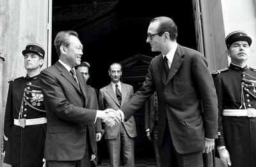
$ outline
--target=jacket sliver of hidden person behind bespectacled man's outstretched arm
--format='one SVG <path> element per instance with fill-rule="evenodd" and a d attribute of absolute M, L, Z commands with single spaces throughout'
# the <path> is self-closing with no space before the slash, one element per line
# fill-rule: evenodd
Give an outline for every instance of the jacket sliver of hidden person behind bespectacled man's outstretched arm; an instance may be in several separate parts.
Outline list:
<path fill-rule="evenodd" d="M 144 115 L 144 124 L 145 129 L 150 130 L 150 134 L 152 132 L 152 129 L 154 127 L 155 122 L 155 113 L 157 106 L 154 105 L 154 94 L 150 96 L 150 98 L 145 102 L 145 115 Z"/>

